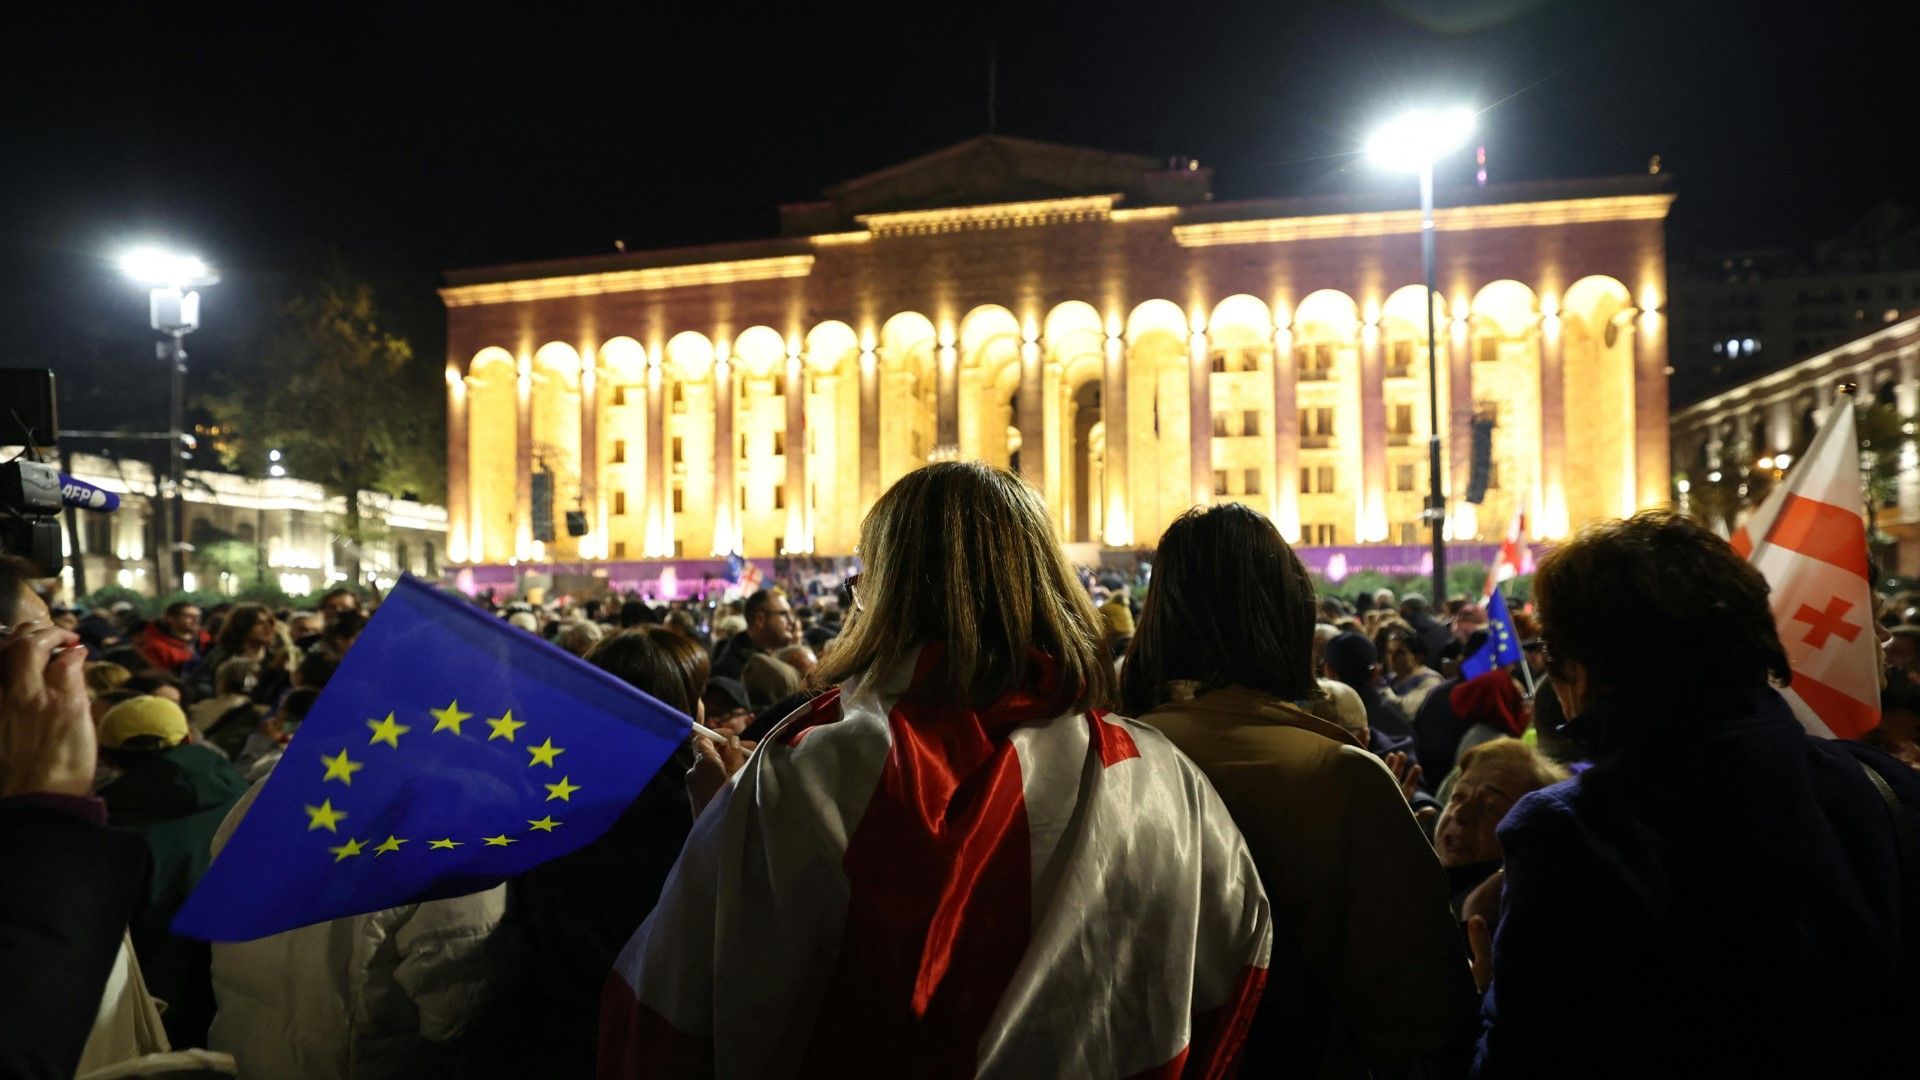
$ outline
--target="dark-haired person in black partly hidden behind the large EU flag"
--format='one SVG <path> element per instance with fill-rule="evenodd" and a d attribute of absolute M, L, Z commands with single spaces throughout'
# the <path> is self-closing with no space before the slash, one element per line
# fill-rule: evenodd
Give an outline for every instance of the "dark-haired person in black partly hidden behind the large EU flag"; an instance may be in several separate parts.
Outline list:
<path fill-rule="evenodd" d="M 707 650 L 660 625 L 601 638 L 588 663 L 701 717 Z M 653 911 L 693 828 L 682 748 L 605 836 L 507 882 L 488 944 L 493 1001 L 468 1040 L 467 1076 L 593 1076 L 601 986 Z"/>

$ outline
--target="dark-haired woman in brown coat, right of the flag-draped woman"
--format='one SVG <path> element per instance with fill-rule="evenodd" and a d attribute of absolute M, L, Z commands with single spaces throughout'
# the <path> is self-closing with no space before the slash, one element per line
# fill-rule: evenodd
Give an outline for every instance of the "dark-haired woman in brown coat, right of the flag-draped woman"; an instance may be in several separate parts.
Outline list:
<path fill-rule="evenodd" d="M 1246 834 L 1277 955 L 1250 1076 L 1367 1076 L 1461 1053 L 1467 953 L 1400 784 L 1308 707 L 1313 584 L 1263 515 L 1190 509 L 1160 538 L 1123 707 L 1173 740 Z"/>

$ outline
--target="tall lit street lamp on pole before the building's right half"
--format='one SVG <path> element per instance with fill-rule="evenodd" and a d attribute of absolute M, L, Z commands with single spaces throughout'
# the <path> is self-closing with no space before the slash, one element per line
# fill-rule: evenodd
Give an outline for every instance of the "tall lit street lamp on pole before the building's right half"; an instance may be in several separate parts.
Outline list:
<path fill-rule="evenodd" d="M 1427 525 L 1434 546 L 1434 605 L 1446 603 L 1446 488 L 1440 484 L 1440 344 L 1434 334 L 1434 161 L 1467 146 L 1473 110 L 1413 110 L 1367 138 L 1367 158 L 1421 177 L 1421 269 L 1427 277 Z"/>

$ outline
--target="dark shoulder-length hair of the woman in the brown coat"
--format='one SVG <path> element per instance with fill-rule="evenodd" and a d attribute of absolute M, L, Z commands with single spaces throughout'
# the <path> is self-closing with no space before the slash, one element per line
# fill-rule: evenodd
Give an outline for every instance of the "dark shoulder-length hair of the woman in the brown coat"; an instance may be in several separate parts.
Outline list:
<path fill-rule="evenodd" d="M 1315 605 L 1308 569 L 1271 521 L 1240 503 L 1188 509 L 1154 552 L 1119 673 L 1123 711 L 1152 711 L 1175 678 L 1202 694 L 1246 686 L 1288 701 L 1313 696 Z"/>

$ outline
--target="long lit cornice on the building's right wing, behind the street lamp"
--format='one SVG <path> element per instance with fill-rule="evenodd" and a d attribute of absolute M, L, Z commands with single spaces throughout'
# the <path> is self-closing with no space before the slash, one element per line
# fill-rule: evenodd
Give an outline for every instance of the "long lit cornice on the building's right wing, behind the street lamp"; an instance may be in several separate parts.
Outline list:
<path fill-rule="evenodd" d="M 1661 221 L 1674 196 L 1626 194 L 1605 198 L 1565 198 L 1548 202 L 1507 202 L 1490 206 L 1450 206 L 1434 211 L 1434 229 L 1465 233 L 1475 229 L 1544 229 L 1607 221 Z M 1321 213 L 1308 217 L 1267 217 L 1256 221 L 1210 221 L 1175 225 L 1173 240 L 1183 248 L 1221 244 L 1284 244 L 1290 240 L 1336 240 L 1390 236 L 1421 231 L 1419 209 L 1371 213 Z"/>

